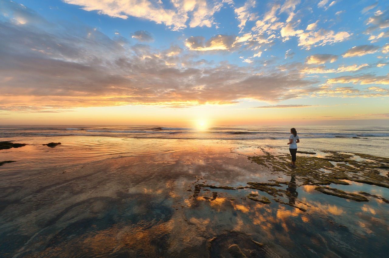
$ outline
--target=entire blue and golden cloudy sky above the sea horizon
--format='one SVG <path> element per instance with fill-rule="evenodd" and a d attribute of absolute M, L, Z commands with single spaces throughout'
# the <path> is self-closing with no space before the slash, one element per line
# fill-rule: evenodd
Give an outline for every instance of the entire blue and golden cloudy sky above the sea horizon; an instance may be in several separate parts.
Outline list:
<path fill-rule="evenodd" d="M 389 125 L 389 2 L 0 0 L 0 125 Z"/>

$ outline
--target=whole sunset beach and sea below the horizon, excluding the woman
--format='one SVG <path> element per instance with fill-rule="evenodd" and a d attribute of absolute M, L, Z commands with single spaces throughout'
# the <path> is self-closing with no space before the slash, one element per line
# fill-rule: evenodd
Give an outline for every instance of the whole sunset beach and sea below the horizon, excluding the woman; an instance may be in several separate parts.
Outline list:
<path fill-rule="evenodd" d="M 289 128 L 28 128 L 0 128 L 2 257 L 389 251 L 388 128 L 298 130 L 296 168 Z"/>

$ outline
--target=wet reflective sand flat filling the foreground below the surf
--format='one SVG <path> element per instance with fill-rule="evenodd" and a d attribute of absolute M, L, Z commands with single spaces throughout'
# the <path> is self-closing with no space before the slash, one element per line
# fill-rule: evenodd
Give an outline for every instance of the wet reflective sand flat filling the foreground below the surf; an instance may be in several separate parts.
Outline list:
<path fill-rule="evenodd" d="M 186 146 L 33 170 L 28 180 L 8 175 L 0 193 L 0 256 L 378 257 L 389 251 L 388 188 L 326 176 L 355 161 L 354 167 L 365 164 L 361 171 L 387 178 L 385 159 L 343 154 L 331 163 L 315 159 L 341 156 L 298 154 L 291 169 L 286 150 L 216 141 Z M 303 165 L 311 161 L 315 168 Z M 321 184 L 323 178 L 347 184 Z M 320 186 L 367 201 L 315 190 Z"/>

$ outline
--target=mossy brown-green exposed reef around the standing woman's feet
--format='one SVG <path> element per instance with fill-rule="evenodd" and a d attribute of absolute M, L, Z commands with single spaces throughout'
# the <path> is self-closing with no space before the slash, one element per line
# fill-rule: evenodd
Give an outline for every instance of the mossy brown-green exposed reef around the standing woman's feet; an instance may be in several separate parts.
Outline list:
<path fill-rule="evenodd" d="M 264 149 L 262 151 L 265 155 L 250 156 L 248 159 L 269 168 L 273 172 L 281 172 L 285 175 L 295 177 L 298 181 L 302 182 L 301 185 L 317 185 L 316 190 L 324 194 L 345 199 L 368 201 L 367 196 L 388 203 L 385 198 L 369 193 L 363 193 L 363 195 L 352 194 L 336 188 L 322 187 L 321 185 L 350 185 L 351 182 L 358 182 L 389 188 L 389 173 L 387 172 L 389 158 L 354 152 L 324 151 L 327 155 L 322 158 L 316 156 L 298 156 L 296 167 L 291 168 L 288 166 L 290 163 L 290 155 L 281 154 L 273 156 Z M 300 153 L 313 154 L 314 152 Z M 274 197 L 282 196 L 283 194 L 286 194 L 288 197 L 291 195 L 290 193 L 287 194 L 287 191 L 283 189 L 274 188 L 279 187 L 280 182 L 275 182 L 275 184 L 248 182 L 247 184 L 249 186 L 242 188 L 261 190 Z"/>

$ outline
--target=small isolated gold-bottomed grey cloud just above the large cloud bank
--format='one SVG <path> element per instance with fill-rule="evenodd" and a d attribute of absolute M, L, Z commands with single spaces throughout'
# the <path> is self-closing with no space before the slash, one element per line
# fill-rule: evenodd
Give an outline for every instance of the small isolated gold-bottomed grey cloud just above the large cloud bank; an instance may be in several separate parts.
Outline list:
<path fill-rule="evenodd" d="M 190 50 L 209 51 L 209 50 L 228 50 L 233 47 L 235 36 L 216 35 L 205 42 L 202 36 L 191 36 L 185 41 L 186 47 Z"/>

